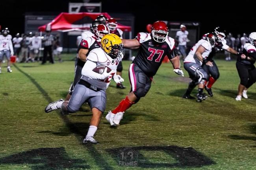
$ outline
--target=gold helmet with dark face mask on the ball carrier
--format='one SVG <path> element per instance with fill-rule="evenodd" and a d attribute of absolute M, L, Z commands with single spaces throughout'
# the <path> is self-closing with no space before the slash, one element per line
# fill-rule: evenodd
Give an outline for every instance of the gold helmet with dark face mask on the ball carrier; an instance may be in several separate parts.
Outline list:
<path fill-rule="evenodd" d="M 115 34 L 108 34 L 101 38 L 101 48 L 113 59 L 122 57 L 122 40 Z"/>

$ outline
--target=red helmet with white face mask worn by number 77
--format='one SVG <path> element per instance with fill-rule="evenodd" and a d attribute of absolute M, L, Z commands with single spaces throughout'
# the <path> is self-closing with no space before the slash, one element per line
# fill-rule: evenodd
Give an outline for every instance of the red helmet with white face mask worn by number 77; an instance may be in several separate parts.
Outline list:
<path fill-rule="evenodd" d="M 163 21 L 154 22 L 152 25 L 152 37 L 156 42 L 164 42 L 168 36 L 168 27 Z"/>

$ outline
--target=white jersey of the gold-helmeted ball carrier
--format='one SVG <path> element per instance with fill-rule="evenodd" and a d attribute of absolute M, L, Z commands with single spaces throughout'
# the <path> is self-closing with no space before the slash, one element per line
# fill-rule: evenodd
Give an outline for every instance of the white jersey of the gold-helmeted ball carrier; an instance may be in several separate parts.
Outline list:
<path fill-rule="evenodd" d="M 107 53 L 105 53 L 103 51 L 102 48 L 95 48 L 93 49 L 89 55 L 87 56 L 87 61 L 91 61 L 96 63 L 96 66 L 107 66 L 108 68 L 110 68 L 111 70 L 115 71 L 117 70 L 117 66 L 119 64 L 119 62 L 122 61 L 123 55 L 122 57 L 117 57 L 115 59 L 112 59 L 111 57 L 109 57 L 109 55 Z M 104 69 L 102 69 L 102 73 L 103 73 Z M 82 71 L 83 73 L 83 71 Z M 93 72 L 94 74 L 98 74 Z M 106 90 L 109 86 L 110 80 L 109 78 L 106 78 L 104 80 L 98 80 L 98 79 L 92 79 L 89 76 L 85 76 L 82 75 L 82 79 L 89 82 L 91 85 L 100 88 L 102 90 Z"/>

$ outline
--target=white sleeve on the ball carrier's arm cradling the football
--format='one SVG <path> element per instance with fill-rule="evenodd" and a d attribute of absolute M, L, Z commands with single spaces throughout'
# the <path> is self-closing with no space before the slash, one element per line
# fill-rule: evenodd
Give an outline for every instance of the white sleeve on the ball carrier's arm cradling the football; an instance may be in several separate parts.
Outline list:
<path fill-rule="evenodd" d="M 101 74 L 95 73 L 93 71 L 93 69 L 96 67 L 96 65 L 97 65 L 96 62 L 87 60 L 83 66 L 82 75 L 89 77 L 90 79 L 99 79 L 99 80 L 105 79 L 106 77 L 104 77 Z"/>

